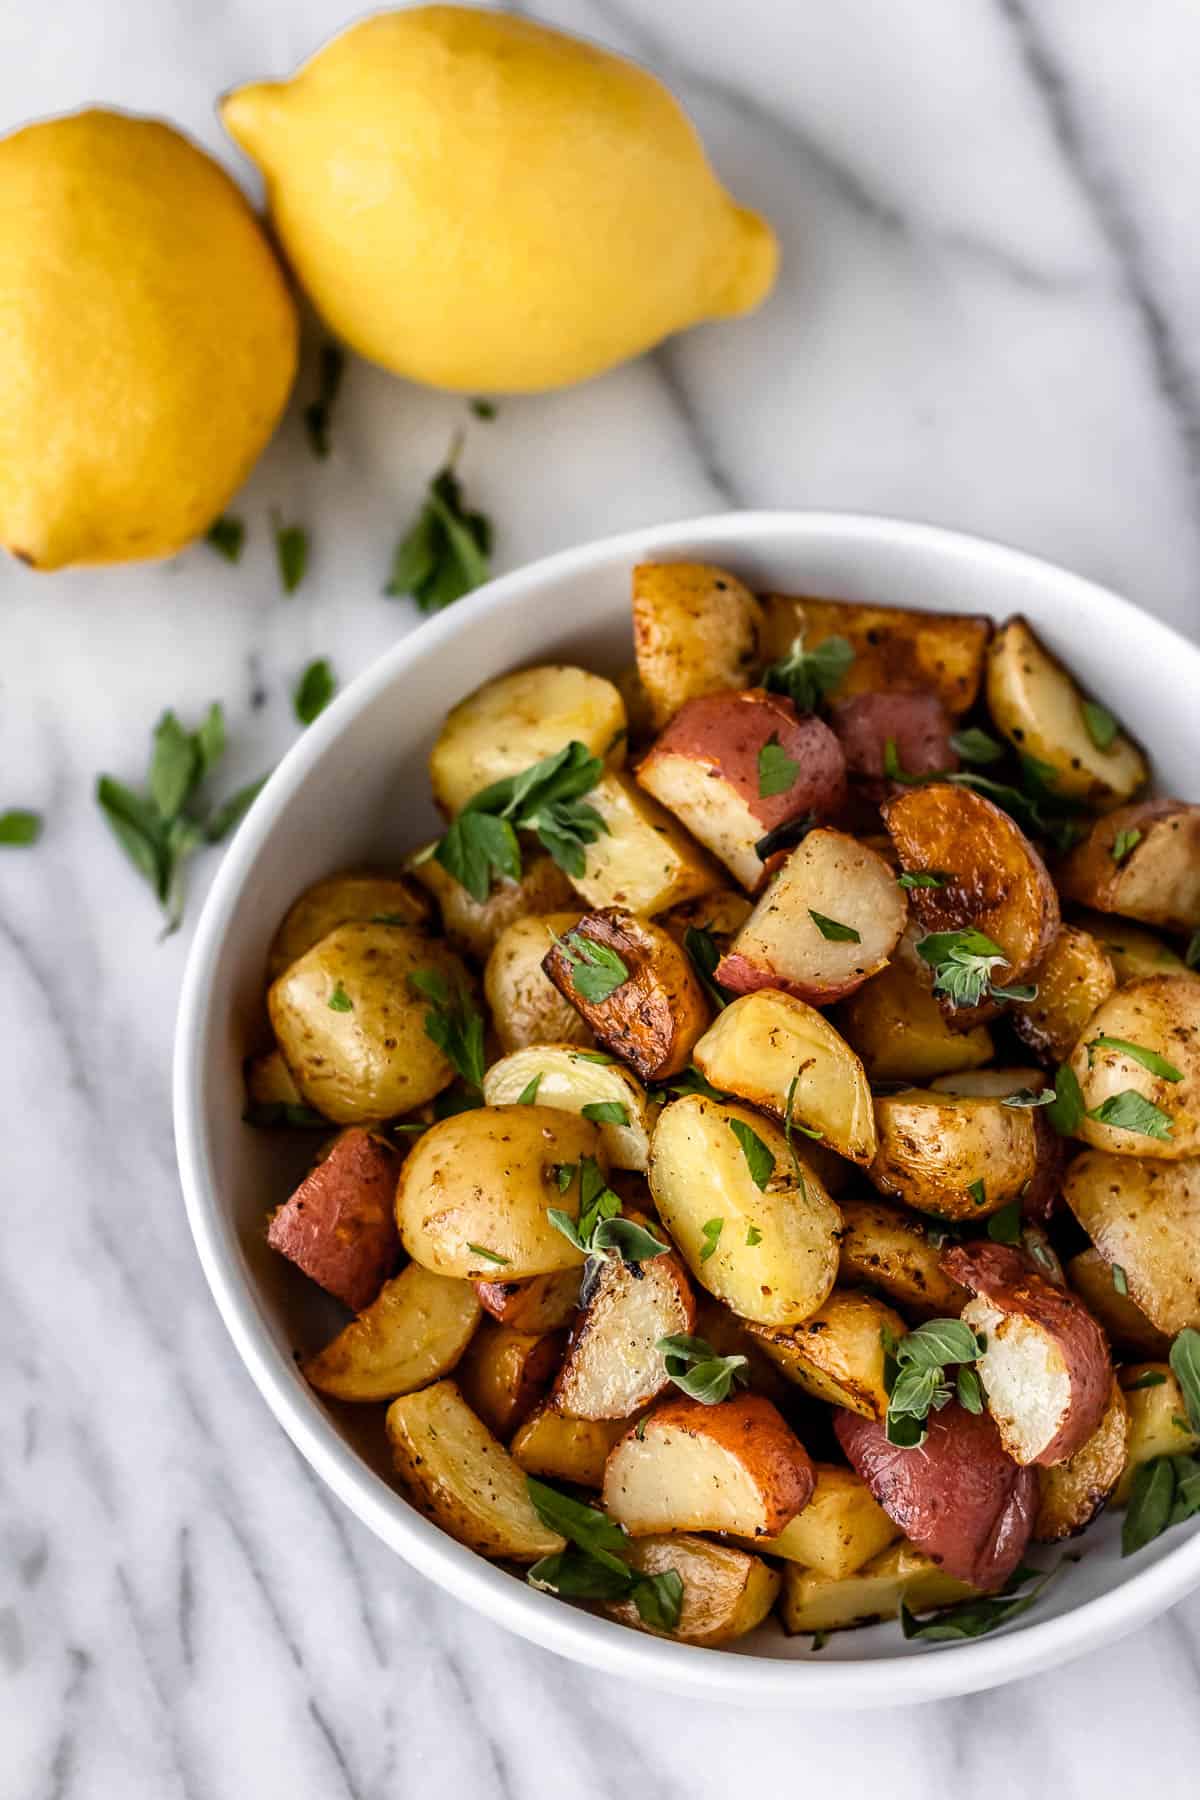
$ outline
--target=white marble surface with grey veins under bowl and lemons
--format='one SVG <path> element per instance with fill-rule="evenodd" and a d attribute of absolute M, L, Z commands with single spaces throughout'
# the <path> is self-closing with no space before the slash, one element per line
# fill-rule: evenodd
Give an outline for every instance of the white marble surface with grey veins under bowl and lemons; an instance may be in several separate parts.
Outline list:
<path fill-rule="evenodd" d="M 1009 538 L 1200 625 L 1200 13 L 1186 0 L 545 0 L 693 106 L 775 220 L 779 288 L 583 391 L 471 423 L 498 565 L 727 504 L 907 513 Z M 344 0 L 9 0 L 0 128 L 104 99 L 223 142 L 212 97 L 282 74 Z M 304 385 L 309 385 L 308 382 Z M 2 403 L 2 401 L 0 401 Z M 993 1694 L 750 1717 L 525 1647 L 317 1485 L 225 1339 L 187 1237 L 157 943 L 95 770 L 164 704 L 227 704 L 230 779 L 291 740 L 297 671 L 416 623 L 380 596 L 461 403 L 349 371 L 335 452 L 293 416 L 228 569 L 0 567 L 2 1800 L 896 1800 L 1195 1793 L 1200 1597 Z M 279 594 L 266 513 L 313 533 Z M 970 599 L 970 596 L 964 596 Z M 209 864 L 212 857 L 209 859 Z M 210 866 L 198 871 L 194 918 Z"/>

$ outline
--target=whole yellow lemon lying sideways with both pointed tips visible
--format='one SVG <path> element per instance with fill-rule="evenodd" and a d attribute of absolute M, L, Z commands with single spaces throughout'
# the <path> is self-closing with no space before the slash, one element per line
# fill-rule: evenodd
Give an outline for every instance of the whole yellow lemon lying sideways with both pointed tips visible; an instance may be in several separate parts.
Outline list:
<path fill-rule="evenodd" d="M 662 83 L 511 13 L 376 14 L 221 117 L 329 328 L 434 387 L 579 382 L 774 279 Z"/>

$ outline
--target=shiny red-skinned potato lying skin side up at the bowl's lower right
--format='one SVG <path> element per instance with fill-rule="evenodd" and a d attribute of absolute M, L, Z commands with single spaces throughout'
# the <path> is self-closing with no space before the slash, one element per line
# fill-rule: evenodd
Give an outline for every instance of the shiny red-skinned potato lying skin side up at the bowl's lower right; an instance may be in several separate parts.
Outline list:
<path fill-rule="evenodd" d="M 855 1474 L 905 1537 L 972 1588 L 1002 1588 L 1038 1516 L 1038 1476 L 1000 1444 L 990 1413 L 952 1400 L 928 1417 L 919 1449 L 887 1442 L 874 1418 L 840 1411 L 833 1422 Z"/>

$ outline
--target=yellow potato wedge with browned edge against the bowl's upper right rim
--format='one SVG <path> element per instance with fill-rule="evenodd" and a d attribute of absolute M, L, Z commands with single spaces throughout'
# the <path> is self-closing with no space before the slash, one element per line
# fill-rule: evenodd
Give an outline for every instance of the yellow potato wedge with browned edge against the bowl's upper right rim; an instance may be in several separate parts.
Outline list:
<path fill-rule="evenodd" d="M 988 650 L 988 711 L 1022 756 L 1036 756 L 1054 770 L 1054 792 L 1088 806 L 1119 806 L 1146 785 L 1146 758 L 1121 729 L 1105 749 L 1110 715 L 1088 729 L 1090 702 L 1076 680 L 1016 617 L 991 639 Z M 1092 736 L 1096 731 L 1096 736 Z"/>

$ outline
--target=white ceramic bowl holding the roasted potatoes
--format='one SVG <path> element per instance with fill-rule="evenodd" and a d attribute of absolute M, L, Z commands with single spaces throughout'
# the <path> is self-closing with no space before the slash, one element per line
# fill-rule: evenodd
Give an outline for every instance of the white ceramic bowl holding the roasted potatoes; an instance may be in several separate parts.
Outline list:
<path fill-rule="evenodd" d="M 898 1625 L 835 1634 L 820 1654 L 772 1622 L 734 1649 L 660 1642 L 536 1593 L 428 1523 L 387 1478 L 381 1408 L 335 1418 L 293 1348 L 333 1330 L 320 1292 L 263 1242 L 295 1147 L 241 1123 L 241 1058 L 261 1008 L 266 945 L 295 895 L 347 864 L 430 835 L 425 756 L 446 709 L 527 662 L 630 661 L 630 569 L 648 558 L 729 563 L 752 587 L 934 612 L 1025 614 L 1146 742 L 1160 785 L 1196 797 L 1200 650 L 1128 601 L 1033 556 L 925 526 L 734 513 L 633 531 L 504 576 L 405 637 L 284 758 L 237 832 L 196 931 L 180 1004 L 175 1121 L 187 1213 L 209 1285 L 266 1404 L 345 1505 L 414 1568 L 489 1618 L 597 1669 L 750 1705 L 867 1706 L 990 1687 L 1132 1631 L 1200 1584 L 1200 1521 L 1121 1561 L 1101 1519 L 1020 1624 L 968 1643 L 905 1643 Z M 304 1154 L 302 1150 L 299 1152 Z M 288 1166 L 291 1165 L 291 1166 Z M 1036 1557 L 1051 1566 L 1060 1550 Z"/>

